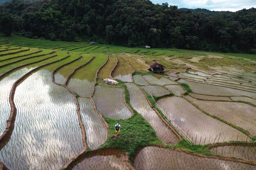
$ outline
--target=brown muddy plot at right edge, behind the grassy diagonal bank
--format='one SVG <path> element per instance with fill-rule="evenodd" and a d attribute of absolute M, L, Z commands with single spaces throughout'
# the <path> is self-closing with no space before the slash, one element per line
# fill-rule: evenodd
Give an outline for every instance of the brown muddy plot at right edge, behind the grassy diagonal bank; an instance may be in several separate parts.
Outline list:
<path fill-rule="evenodd" d="M 186 96 L 191 102 L 196 104 L 202 110 L 216 115 L 231 124 L 248 130 L 253 136 L 256 135 L 256 108 L 244 103 L 238 102 L 212 102 L 194 99 Z"/>

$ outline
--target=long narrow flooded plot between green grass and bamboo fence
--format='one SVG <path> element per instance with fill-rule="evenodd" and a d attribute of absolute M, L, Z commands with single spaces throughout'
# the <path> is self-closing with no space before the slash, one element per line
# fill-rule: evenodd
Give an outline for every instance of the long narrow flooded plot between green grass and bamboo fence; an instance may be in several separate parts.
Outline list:
<path fill-rule="evenodd" d="M 164 143 L 176 144 L 178 139 L 149 106 L 144 93 L 139 89 L 139 87 L 132 83 L 126 83 L 126 86 L 130 93 L 130 104 L 153 127 L 157 137 Z"/>

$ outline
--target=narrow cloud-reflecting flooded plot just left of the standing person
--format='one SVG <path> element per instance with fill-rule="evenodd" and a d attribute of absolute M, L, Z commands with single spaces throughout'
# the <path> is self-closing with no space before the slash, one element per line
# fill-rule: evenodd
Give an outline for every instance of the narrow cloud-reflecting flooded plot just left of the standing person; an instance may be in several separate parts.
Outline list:
<path fill-rule="evenodd" d="M 108 129 L 94 110 L 92 101 L 88 98 L 78 98 L 80 114 L 85 126 L 86 140 L 89 148 L 96 149 L 107 139 Z"/>

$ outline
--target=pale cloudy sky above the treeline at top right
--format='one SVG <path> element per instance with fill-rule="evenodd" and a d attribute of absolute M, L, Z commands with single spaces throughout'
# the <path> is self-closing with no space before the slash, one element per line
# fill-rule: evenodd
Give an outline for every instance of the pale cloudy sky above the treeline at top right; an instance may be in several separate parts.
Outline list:
<path fill-rule="evenodd" d="M 167 2 L 178 8 L 204 8 L 211 11 L 239 11 L 241 9 L 256 8 L 256 0 L 151 0 L 154 4 Z"/>

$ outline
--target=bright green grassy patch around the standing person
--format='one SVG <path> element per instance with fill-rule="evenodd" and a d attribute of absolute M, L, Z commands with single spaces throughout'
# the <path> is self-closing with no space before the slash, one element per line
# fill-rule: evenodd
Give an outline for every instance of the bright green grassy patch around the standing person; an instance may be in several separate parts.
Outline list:
<path fill-rule="evenodd" d="M 98 79 L 97 82 L 99 82 Z M 155 134 L 155 130 L 150 124 L 132 108 L 130 105 L 130 95 L 126 88 L 126 85 L 119 81 L 119 85 L 115 87 L 121 87 L 125 90 L 126 104 L 133 110 L 134 115 L 126 120 L 117 120 L 104 117 L 106 122 L 109 124 L 110 135 L 106 142 L 100 148 L 120 148 L 124 152 L 128 152 L 129 157 L 133 158 L 135 152 L 139 147 L 150 146 L 152 144 L 162 144 Z M 119 121 L 121 125 L 121 132 L 119 136 L 115 136 L 115 124 Z"/>

